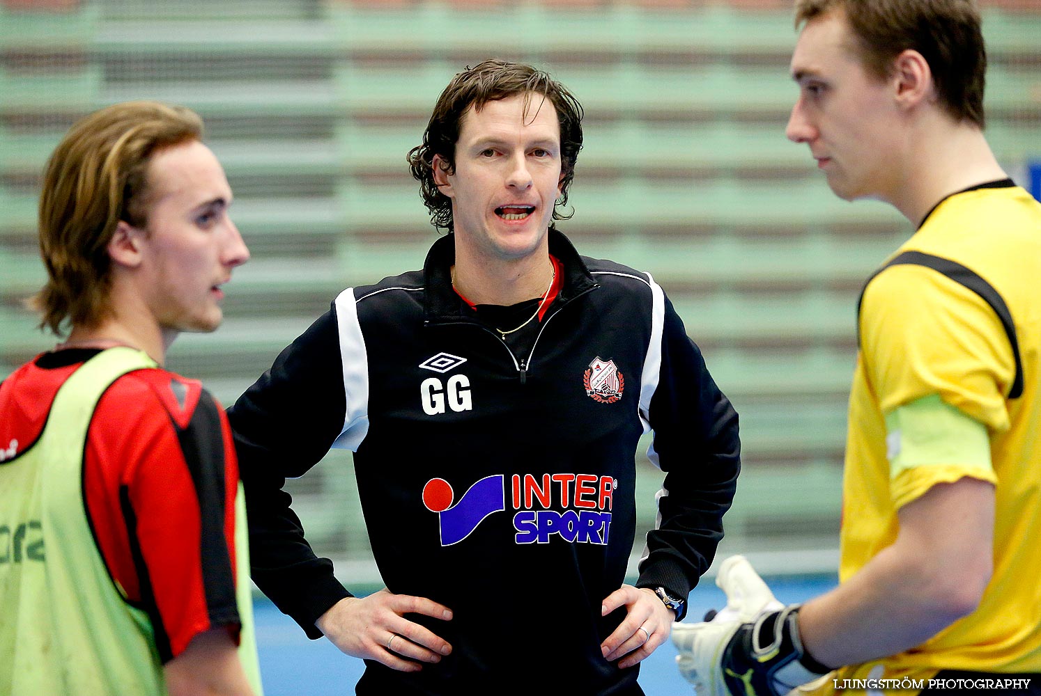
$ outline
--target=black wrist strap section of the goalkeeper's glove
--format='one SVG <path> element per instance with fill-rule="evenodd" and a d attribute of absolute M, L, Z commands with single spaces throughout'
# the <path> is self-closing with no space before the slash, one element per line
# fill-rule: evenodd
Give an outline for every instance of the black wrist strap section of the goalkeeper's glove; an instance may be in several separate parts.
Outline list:
<path fill-rule="evenodd" d="M 798 636 L 799 604 L 744 623 L 723 650 L 723 680 L 732 694 L 780 696 L 831 670 L 807 654 Z"/>

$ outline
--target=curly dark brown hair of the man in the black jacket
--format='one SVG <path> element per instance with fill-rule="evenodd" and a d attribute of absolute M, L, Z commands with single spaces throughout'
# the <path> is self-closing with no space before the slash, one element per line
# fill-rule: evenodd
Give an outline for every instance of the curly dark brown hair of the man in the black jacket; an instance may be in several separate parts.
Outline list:
<path fill-rule="evenodd" d="M 409 169 L 420 182 L 420 195 L 430 210 L 430 222 L 435 227 L 450 232 L 453 230 L 452 199 L 442 194 L 434 181 L 434 155 L 440 155 L 447 164 L 446 171 L 453 173 L 455 146 L 466 109 L 473 106 L 480 110 L 487 102 L 515 95 L 541 95 L 550 100 L 557 111 L 560 122 L 562 177 L 557 206 L 567 204 L 567 189 L 575 178 L 575 162 L 582 149 L 582 105 L 564 85 L 548 73 L 523 63 L 485 60 L 474 68 L 467 67 L 452 78 L 434 105 L 430 123 L 423 133 L 423 145 L 412 148 L 408 153 Z M 557 207 L 554 208 L 554 220 L 568 217 L 570 214 L 561 213 Z"/>

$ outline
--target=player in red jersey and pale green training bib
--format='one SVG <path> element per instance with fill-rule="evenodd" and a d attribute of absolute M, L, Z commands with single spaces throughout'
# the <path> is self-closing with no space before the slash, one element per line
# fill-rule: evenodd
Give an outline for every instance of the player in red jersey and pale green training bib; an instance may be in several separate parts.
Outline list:
<path fill-rule="evenodd" d="M 42 328 L 0 383 L 0 694 L 260 696 L 223 409 L 162 369 L 249 258 L 192 111 L 116 104 L 44 174 Z"/>

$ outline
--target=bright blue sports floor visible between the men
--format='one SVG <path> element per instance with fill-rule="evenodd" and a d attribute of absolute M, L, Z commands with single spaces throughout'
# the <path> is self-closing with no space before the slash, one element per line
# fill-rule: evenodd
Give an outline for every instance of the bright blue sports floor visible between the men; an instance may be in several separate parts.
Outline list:
<path fill-rule="evenodd" d="M 836 584 L 831 575 L 766 577 L 784 603 L 805 601 Z M 709 578 L 690 593 L 689 620 L 726 603 L 722 591 Z M 353 696 L 361 676 L 360 660 L 349 658 L 325 640 L 308 640 L 300 627 L 265 599 L 256 603 L 257 643 L 266 696 Z M 648 696 L 693 694 L 676 669 L 671 641 L 655 650 L 640 667 L 640 686 Z"/>

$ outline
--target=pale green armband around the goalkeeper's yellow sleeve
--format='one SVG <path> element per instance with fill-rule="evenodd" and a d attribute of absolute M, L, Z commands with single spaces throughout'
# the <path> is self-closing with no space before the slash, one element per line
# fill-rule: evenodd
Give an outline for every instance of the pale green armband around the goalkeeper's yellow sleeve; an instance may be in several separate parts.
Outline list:
<path fill-rule="evenodd" d="M 905 404 L 886 415 L 889 476 L 931 465 L 957 465 L 993 476 L 987 427 L 939 394 Z"/>

